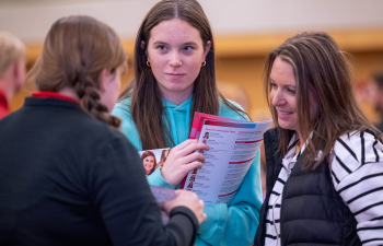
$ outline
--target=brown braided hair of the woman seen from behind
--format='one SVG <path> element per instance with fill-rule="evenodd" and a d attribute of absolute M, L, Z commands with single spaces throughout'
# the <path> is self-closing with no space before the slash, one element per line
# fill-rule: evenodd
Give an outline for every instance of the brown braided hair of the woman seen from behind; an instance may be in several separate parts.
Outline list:
<path fill-rule="evenodd" d="M 27 80 L 33 77 L 38 91 L 74 89 L 86 113 L 118 128 L 120 119 L 109 115 L 98 94 L 101 72 L 118 68 L 125 71 L 126 54 L 117 34 L 91 16 L 67 16 L 50 27 Z"/>

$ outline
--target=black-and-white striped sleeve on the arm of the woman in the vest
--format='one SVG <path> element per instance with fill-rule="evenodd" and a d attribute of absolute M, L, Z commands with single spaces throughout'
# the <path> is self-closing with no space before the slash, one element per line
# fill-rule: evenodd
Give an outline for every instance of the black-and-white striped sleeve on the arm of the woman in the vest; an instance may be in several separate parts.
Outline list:
<path fill-rule="evenodd" d="M 334 186 L 358 222 L 359 238 L 383 245 L 383 144 L 368 131 L 345 134 L 334 153 Z"/>

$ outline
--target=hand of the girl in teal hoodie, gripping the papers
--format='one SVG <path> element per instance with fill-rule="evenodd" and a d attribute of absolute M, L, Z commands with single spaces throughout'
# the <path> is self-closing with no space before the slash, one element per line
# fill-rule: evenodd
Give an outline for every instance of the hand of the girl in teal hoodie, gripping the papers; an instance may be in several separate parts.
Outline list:
<path fill-rule="evenodd" d="M 205 156 L 196 151 L 209 150 L 210 148 L 197 141 L 197 139 L 188 139 L 172 149 L 161 169 L 161 175 L 165 181 L 176 186 L 187 173 L 202 166 Z"/>

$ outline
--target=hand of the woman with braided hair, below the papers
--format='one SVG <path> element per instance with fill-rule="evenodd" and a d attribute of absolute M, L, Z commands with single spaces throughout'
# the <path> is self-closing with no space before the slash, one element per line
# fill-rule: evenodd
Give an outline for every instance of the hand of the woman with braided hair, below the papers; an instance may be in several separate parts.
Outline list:
<path fill-rule="evenodd" d="M 198 223 L 202 223 L 206 220 L 206 213 L 204 213 L 205 203 L 199 200 L 195 192 L 177 189 L 175 190 L 176 198 L 171 201 L 165 201 L 160 204 L 161 209 L 167 214 L 171 213 L 175 207 L 186 207 L 196 215 Z"/>

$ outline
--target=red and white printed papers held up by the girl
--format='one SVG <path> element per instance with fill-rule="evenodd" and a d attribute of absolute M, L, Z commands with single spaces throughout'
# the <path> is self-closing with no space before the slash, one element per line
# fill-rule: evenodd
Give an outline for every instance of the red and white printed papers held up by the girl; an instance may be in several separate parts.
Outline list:
<path fill-rule="evenodd" d="M 182 189 L 196 192 L 207 206 L 229 203 L 240 188 L 271 120 L 241 121 L 196 113 L 190 138 L 206 142 L 201 168 L 192 171 Z"/>

